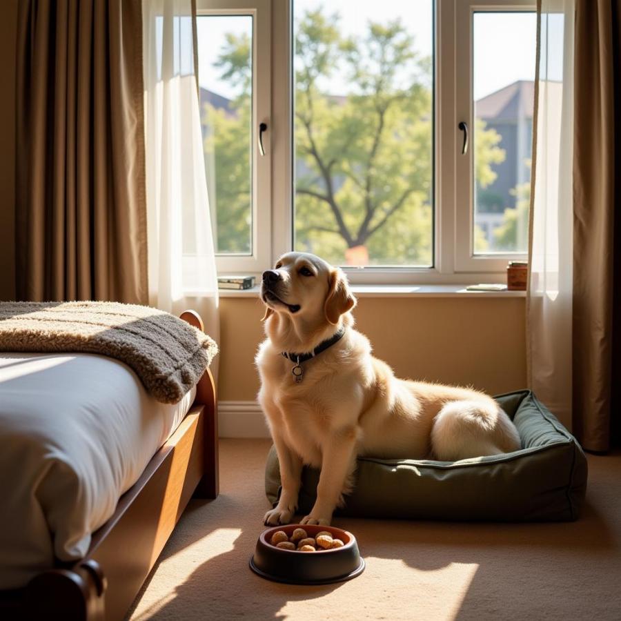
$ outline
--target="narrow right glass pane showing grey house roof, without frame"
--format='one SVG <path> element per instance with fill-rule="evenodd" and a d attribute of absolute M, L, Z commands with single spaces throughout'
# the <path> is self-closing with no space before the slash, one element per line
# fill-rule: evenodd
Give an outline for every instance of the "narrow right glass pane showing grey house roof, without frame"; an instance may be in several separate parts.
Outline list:
<path fill-rule="evenodd" d="M 526 253 L 537 17 L 475 12 L 474 249 Z"/>

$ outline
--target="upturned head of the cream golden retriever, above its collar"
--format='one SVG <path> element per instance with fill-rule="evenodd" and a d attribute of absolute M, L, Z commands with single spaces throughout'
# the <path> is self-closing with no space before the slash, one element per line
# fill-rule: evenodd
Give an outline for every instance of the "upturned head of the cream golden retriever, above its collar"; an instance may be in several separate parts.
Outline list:
<path fill-rule="evenodd" d="M 333 326 L 356 304 L 343 271 L 308 253 L 286 253 L 264 272 L 261 299 L 264 319 L 277 313 L 293 322 Z"/>

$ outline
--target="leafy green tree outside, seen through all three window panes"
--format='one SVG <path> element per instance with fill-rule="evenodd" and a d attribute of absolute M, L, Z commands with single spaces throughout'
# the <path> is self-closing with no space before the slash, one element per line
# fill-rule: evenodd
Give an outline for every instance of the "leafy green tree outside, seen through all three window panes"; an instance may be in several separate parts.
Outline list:
<path fill-rule="evenodd" d="M 338 14 L 310 10 L 296 28 L 295 246 L 336 264 L 352 249 L 364 248 L 371 264 L 429 265 L 433 63 L 415 50 L 400 21 L 370 22 L 359 39 L 343 37 L 338 24 Z M 228 37 L 217 62 L 221 76 L 244 90 L 246 102 L 248 46 L 249 41 Z M 351 85 L 346 96 L 333 92 L 335 76 Z M 248 132 L 249 104 L 240 101 L 236 128 Z M 240 203 L 231 193 L 246 196 L 249 188 L 241 181 L 242 175 L 250 179 L 249 169 L 241 168 L 239 134 L 230 119 L 210 112 L 208 120 L 215 126 L 215 144 L 206 149 L 226 151 L 217 158 L 218 204 L 226 195 L 228 212 L 221 216 L 218 210 L 218 239 L 230 226 L 228 243 L 234 244 Z M 495 177 L 491 166 L 504 159 L 500 135 L 482 121 L 476 133 L 477 180 L 489 184 Z"/>

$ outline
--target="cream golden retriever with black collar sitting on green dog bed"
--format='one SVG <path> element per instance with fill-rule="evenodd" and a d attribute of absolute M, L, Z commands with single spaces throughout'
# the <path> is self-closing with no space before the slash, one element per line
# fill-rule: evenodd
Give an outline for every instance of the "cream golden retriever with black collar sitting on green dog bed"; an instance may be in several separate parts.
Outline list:
<path fill-rule="evenodd" d="M 330 524 L 351 493 L 356 458 L 452 462 L 520 449 L 513 422 L 471 388 L 399 380 L 354 329 L 346 276 L 308 253 L 286 253 L 263 273 L 266 339 L 255 362 L 259 403 L 280 464 L 282 493 L 264 517 L 289 523 L 302 466 L 321 469 L 302 524 Z M 379 319 L 382 320 L 382 319 Z"/>

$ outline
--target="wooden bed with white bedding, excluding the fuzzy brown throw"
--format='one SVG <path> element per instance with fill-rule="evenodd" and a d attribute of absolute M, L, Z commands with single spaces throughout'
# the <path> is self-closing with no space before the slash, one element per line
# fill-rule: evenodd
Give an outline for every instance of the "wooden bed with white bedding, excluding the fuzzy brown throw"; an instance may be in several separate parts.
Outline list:
<path fill-rule="evenodd" d="M 203 330 L 193 311 L 181 318 Z M 21 415 L 26 433 L 5 442 L 0 617 L 120 620 L 190 497 L 217 496 L 213 376 L 165 404 L 108 357 L 0 354 L 0 420 L 26 393 L 66 417 Z"/>

